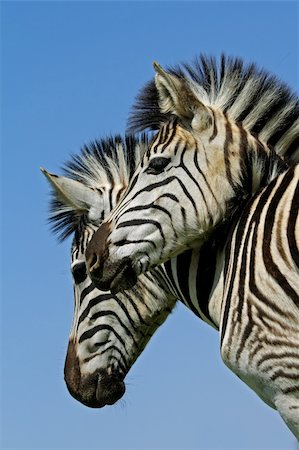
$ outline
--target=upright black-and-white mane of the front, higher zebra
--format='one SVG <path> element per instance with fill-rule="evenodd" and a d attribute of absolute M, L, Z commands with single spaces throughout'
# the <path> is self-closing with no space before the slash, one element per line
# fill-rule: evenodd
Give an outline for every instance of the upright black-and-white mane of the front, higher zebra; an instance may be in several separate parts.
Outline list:
<path fill-rule="evenodd" d="M 241 122 L 269 147 L 275 146 L 278 154 L 299 160 L 298 96 L 275 76 L 255 64 L 225 55 L 219 62 L 201 55 L 193 64 L 183 63 L 166 70 L 186 80 L 199 100 Z M 128 130 L 156 130 L 168 120 L 170 114 L 161 112 L 158 92 L 151 80 L 136 98 Z"/>

